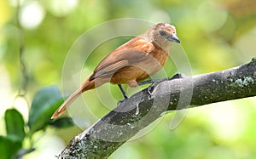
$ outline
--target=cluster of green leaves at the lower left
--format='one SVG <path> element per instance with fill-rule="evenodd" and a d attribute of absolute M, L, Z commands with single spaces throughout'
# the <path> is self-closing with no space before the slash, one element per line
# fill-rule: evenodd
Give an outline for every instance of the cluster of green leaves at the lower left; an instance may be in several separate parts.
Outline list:
<path fill-rule="evenodd" d="M 55 121 L 50 120 L 50 116 L 62 102 L 63 98 L 60 90 L 55 87 L 47 87 L 41 88 L 35 94 L 27 123 L 15 108 L 6 110 L 4 120 L 7 135 L 0 136 L 0 158 L 19 158 L 35 150 L 32 147 L 32 136 L 39 130 L 45 130 L 49 126 L 55 128 L 73 126 L 70 117 L 59 118 Z M 31 147 L 27 150 L 22 147 L 26 138 L 31 140 Z"/>

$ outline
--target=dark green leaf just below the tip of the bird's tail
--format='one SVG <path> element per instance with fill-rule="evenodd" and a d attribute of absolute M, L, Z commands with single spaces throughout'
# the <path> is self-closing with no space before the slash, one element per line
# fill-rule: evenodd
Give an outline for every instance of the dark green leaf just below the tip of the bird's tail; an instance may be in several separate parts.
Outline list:
<path fill-rule="evenodd" d="M 73 127 L 73 119 L 71 117 L 61 117 L 57 118 L 55 121 L 49 122 L 50 126 L 55 128 L 69 128 Z"/>

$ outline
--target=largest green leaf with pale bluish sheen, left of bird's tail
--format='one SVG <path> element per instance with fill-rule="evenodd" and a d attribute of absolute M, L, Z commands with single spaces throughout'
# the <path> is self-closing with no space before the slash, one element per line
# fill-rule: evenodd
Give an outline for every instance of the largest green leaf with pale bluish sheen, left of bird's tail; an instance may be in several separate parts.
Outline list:
<path fill-rule="evenodd" d="M 42 88 L 35 94 L 28 118 L 29 136 L 47 126 L 51 121 L 50 117 L 63 101 L 60 90 L 56 87 Z"/>

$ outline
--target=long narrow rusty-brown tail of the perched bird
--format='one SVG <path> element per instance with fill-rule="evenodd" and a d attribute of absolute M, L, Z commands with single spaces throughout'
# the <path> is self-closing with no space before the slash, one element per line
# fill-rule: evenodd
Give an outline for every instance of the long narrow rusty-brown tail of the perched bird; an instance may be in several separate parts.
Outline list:
<path fill-rule="evenodd" d="M 73 103 L 73 100 L 77 99 L 80 94 L 82 94 L 85 90 L 89 89 L 87 87 L 90 85 L 90 83 L 91 82 L 89 80 L 85 81 L 80 88 L 73 92 L 73 94 L 71 94 L 55 111 L 55 113 L 51 116 L 51 119 L 55 119 L 56 117 L 61 116 L 61 114 L 63 114 L 67 110 L 67 106 Z"/>

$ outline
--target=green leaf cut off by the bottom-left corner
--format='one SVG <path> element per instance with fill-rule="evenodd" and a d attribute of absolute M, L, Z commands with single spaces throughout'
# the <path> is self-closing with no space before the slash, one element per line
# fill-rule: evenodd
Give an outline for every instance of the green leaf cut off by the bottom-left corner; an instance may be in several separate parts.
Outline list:
<path fill-rule="evenodd" d="M 10 136 L 0 136 L 0 158 L 10 159 L 15 156 L 21 148 L 20 139 Z"/>

